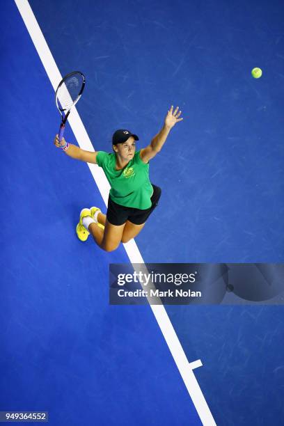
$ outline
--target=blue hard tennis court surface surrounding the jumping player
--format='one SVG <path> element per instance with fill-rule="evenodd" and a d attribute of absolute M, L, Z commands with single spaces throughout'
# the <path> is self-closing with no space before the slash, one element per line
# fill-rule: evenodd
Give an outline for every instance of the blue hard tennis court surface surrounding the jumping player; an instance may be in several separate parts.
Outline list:
<path fill-rule="evenodd" d="M 283 3 L 16 3 L 0 4 L 0 411 L 48 411 L 52 426 L 283 425 L 282 306 L 165 306 L 202 361 L 205 423 L 151 307 L 109 305 L 109 265 L 129 250 L 77 239 L 83 207 L 106 211 L 101 178 L 54 147 L 54 88 L 20 13 L 31 6 L 62 76 L 86 75 L 77 111 L 95 150 L 120 128 L 145 147 L 182 110 L 150 162 L 162 195 L 135 239 L 144 262 L 281 263 Z M 65 138 L 79 143 L 70 125 Z"/>

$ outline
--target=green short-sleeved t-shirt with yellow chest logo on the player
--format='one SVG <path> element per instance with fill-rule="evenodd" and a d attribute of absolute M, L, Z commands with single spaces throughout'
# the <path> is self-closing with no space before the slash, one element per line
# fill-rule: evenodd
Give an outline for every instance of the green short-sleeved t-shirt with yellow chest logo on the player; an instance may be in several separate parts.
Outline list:
<path fill-rule="evenodd" d="M 140 150 L 121 170 L 116 170 L 116 154 L 98 151 L 97 165 L 102 167 L 111 185 L 109 195 L 114 203 L 146 210 L 151 207 L 153 187 L 149 180 L 149 163 L 140 158 Z"/>

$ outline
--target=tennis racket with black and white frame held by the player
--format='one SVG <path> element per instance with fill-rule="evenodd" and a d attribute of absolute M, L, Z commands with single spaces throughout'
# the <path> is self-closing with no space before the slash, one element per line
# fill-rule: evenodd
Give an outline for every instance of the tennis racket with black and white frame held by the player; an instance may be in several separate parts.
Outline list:
<path fill-rule="evenodd" d="M 55 93 L 55 102 L 58 111 L 61 113 L 61 125 L 58 132 L 59 141 L 62 140 L 65 124 L 68 120 L 71 108 L 79 101 L 84 87 L 85 77 L 80 71 L 73 71 L 65 75 Z"/>

